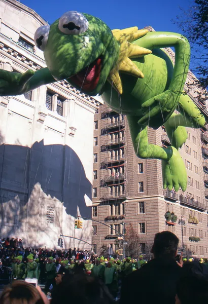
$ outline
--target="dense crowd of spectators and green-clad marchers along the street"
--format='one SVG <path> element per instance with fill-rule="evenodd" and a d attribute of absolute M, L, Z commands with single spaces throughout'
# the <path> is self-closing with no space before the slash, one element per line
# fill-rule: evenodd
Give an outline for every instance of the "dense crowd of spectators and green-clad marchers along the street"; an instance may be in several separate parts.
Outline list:
<path fill-rule="evenodd" d="M 22 240 L 12 240 L 13 247 L 11 240 L 7 241 L 1 241 L 0 272 L 11 269 L 13 282 L 0 296 L 1 304 L 49 301 L 52 304 L 71 301 L 202 304 L 208 301 L 207 260 L 187 260 L 181 255 L 177 261 L 179 239 L 170 232 L 155 235 L 153 258 L 149 261 L 142 255 L 123 260 L 97 257 L 93 252 L 76 248 L 24 249 Z M 39 286 L 26 283 L 26 277 L 45 283 L 45 293 Z"/>

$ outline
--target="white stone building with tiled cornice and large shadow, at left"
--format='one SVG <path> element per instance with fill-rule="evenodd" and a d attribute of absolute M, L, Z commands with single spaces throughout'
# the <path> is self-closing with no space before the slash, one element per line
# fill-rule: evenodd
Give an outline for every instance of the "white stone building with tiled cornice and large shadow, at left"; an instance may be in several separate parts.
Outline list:
<path fill-rule="evenodd" d="M 16 0 L 0 4 L 0 66 L 46 67 L 34 32 L 46 25 Z M 66 82 L 0 98 L 0 236 L 24 245 L 91 248 L 91 221 L 75 230 L 77 212 L 91 216 L 93 117 L 99 100 Z"/>

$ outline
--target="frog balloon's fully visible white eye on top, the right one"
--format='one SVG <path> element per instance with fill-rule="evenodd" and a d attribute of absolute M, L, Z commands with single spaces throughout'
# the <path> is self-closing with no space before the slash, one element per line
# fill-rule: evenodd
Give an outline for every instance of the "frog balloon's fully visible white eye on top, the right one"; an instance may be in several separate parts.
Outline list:
<path fill-rule="evenodd" d="M 58 28 L 67 35 L 78 35 L 88 29 L 86 17 L 76 11 L 69 11 L 59 19 Z"/>

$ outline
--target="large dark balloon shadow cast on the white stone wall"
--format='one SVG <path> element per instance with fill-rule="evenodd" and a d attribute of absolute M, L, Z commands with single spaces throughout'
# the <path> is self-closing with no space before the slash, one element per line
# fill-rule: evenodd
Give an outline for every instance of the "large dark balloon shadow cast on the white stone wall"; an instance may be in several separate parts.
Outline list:
<path fill-rule="evenodd" d="M 4 141 L 2 135 L 0 141 Z M 85 197 L 91 199 L 92 185 L 75 151 L 61 144 L 44 145 L 43 140 L 31 148 L 19 144 L 0 145 L 1 226 L 6 221 L 19 227 L 25 216 L 31 221 L 33 216 L 37 219 L 39 203 L 32 212 L 26 206 L 29 198 L 31 203 L 31 196 L 33 202 L 39 200 L 39 183 L 47 196 L 63 202 L 67 214 L 76 216 L 79 206 L 82 216 L 91 217 Z M 19 214 L 15 210 L 17 205 Z"/>

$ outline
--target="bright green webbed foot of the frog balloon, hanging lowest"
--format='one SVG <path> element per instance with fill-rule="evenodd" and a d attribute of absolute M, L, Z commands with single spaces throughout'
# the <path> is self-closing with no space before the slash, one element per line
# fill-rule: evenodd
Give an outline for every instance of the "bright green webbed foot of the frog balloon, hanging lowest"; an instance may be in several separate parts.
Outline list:
<path fill-rule="evenodd" d="M 175 147 L 171 148 L 172 156 L 169 161 L 162 160 L 163 188 L 168 187 L 169 190 L 172 190 L 174 187 L 177 192 L 181 187 L 185 191 L 187 186 L 186 168 L 179 151 Z"/>

